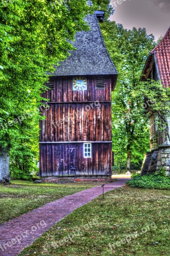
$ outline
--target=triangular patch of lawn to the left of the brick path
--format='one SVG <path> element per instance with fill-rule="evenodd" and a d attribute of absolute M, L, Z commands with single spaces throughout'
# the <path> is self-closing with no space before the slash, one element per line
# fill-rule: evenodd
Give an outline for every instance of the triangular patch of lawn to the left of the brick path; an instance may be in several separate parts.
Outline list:
<path fill-rule="evenodd" d="M 66 195 L 100 185 L 98 182 L 35 184 L 12 180 L 10 185 L 0 185 L 0 224 Z"/>

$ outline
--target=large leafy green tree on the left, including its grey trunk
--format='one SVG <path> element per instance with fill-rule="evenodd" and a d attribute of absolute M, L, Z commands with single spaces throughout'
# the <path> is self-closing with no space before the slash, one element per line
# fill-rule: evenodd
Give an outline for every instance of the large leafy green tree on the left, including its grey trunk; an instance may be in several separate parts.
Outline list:
<path fill-rule="evenodd" d="M 88 29 L 89 11 L 86 0 L 0 2 L 0 181 L 9 181 L 12 141 L 42 100 L 46 71 L 73 49 L 75 32 Z"/>

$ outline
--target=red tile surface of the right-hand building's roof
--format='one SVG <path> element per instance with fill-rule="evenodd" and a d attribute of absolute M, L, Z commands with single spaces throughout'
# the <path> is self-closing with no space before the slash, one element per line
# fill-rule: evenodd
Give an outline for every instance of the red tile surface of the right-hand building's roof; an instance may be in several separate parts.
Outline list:
<path fill-rule="evenodd" d="M 170 86 L 170 28 L 151 53 L 156 55 L 162 84 L 164 87 Z"/>

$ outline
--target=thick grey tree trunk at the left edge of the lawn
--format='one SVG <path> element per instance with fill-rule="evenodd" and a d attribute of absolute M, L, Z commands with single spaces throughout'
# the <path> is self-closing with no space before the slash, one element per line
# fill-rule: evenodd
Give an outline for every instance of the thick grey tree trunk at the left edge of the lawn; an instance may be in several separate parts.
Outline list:
<path fill-rule="evenodd" d="M 9 148 L 0 147 L 0 183 L 9 181 Z"/>

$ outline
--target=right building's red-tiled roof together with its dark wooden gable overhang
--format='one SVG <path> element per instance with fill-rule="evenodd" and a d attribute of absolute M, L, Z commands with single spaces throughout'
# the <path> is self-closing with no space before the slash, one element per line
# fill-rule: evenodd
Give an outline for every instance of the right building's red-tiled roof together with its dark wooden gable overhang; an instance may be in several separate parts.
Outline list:
<path fill-rule="evenodd" d="M 147 79 L 146 73 L 154 62 L 156 64 L 158 79 L 161 80 L 164 87 L 170 86 L 170 28 L 159 44 L 150 52 L 145 64 L 143 75 Z"/>

